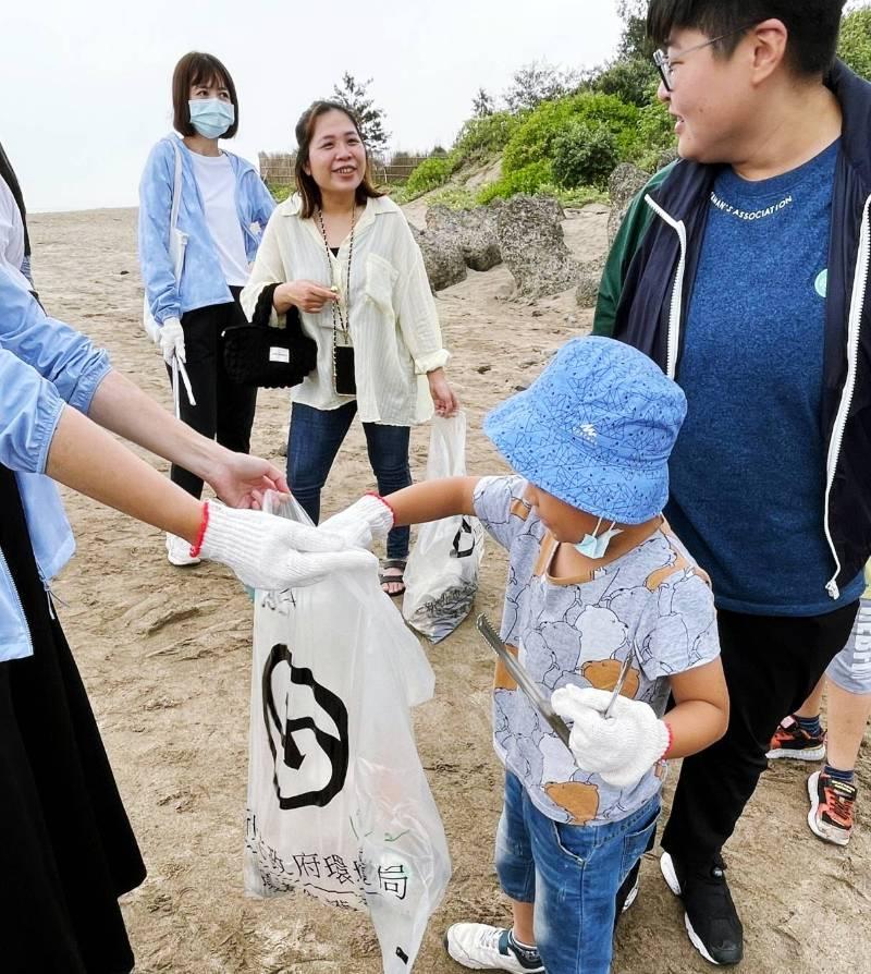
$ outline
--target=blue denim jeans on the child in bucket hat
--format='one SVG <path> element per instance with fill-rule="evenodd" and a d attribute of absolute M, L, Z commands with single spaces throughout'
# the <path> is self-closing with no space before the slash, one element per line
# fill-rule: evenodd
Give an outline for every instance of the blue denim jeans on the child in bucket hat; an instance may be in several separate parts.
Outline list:
<path fill-rule="evenodd" d="M 548 974 L 608 974 L 617 890 L 657 827 L 659 795 L 606 825 L 548 818 L 520 781 L 505 774 L 505 807 L 496 832 L 502 889 L 535 903 L 535 933 Z"/>

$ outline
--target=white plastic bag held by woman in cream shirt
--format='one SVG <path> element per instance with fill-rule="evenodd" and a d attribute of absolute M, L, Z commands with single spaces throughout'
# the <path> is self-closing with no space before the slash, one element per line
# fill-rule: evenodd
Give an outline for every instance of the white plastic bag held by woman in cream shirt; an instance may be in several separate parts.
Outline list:
<path fill-rule="evenodd" d="M 466 414 L 432 421 L 427 479 L 466 475 Z M 421 525 L 405 569 L 402 613 L 438 643 L 468 616 L 478 591 L 483 528 L 477 518 L 454 516 Z"/>

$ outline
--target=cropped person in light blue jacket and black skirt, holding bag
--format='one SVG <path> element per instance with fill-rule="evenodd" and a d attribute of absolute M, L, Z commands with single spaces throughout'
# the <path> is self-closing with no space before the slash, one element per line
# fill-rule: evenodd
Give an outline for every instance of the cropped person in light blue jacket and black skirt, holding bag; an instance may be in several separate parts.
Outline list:
<path fill-rule="evenodd" d="M 191 497 L 101 426 L 196 472 L 233 507 Z M 235 510 L 286 490 L 283 476 L 176 421 L 0 268 L 0 970 L 126 974 L 118 897 L 145 866 L 51 599 L 75 548 L 56 479 L 184 537 L 255 588 L 372 556 L 349 560 L 333 553 L 339 538 Z"/>

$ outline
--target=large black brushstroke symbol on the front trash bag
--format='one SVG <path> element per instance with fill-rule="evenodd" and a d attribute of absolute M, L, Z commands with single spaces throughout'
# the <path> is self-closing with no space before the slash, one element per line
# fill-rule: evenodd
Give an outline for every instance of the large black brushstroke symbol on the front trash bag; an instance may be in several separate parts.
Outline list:
<path fill-rule="evenodd" d="M 286 691 L 286 683 L 282 681 L 285 687 L 284 705 L 285 714 L 281 715 L 279 705 L 275 701 L 273 675 L 279 667 L 286 666 L 290 671 L 291 683 L 300 686 L 308 686 L 315 697 L 315 702 L 330 717 L 339 731 L 339 736 L 321 730 L 311 717 L 293 717 L 286 713 L 286 708 L 292 699 L 291 694 Z M 262 697 L 263 697 L 263 722 L 266 723 L 267 738 L 269 740 L 269 750 L 272 752 L 272 759 L 275 762 L 275 774 L 272 778 L 275 787 L 275 794 L 279 800 L 279 807 L 284 811 L 291 808 L 304 808 L 308 805 L 323 807 L 328 805 L 345 786 L 347 777 L 347 766 L 349 759 L 349 742 L 347 731 L 347 708 L 342 701 L 331 691 L 327 690 L 315 680 L 315 677 L 306 667 L 295 667 L 293 665 L 293 654 L 283 643 L 278 643 L 272 647 L 269 658 L 263 667 L 262 678 Z M 273 739 L 273 730 L 278 731 L 279 741 L 282 746 L 282 754 L 279 757 L 278 747 Z M 279 781 L 279 762 L 298 771 L 303 767 L 306 755 L 299 750 L 294 733 L 300 730 L 308 730 L 315 735 L 318 745 L 330 760 L 332 772 L 330 780 L 319 791 L 306 791 L 302 794 L 284 795 L 282 794 L 281 782 Z"/>

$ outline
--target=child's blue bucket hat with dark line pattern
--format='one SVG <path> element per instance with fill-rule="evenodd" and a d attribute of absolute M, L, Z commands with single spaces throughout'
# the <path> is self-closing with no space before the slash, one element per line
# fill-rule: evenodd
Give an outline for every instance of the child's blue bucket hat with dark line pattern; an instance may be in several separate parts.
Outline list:
<path fill-rule="evenodd" d="M 641 524 L 668 499 L 668 455 L 687 411 L 683 390 L 647 355 L 577 338 L 483 430 L 514 470 L 560 500 Z"/>

